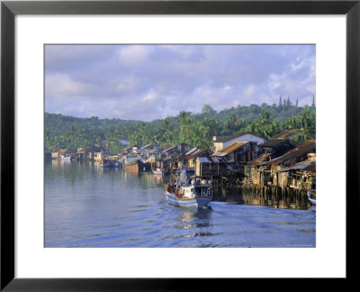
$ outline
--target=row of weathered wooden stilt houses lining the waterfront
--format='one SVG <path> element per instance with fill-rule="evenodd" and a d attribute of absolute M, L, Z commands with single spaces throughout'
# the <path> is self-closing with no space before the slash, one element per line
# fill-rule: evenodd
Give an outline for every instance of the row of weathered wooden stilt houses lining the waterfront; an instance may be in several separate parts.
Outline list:
<path fill-rule="evenodd" d="M 141 145 L 141 141 L 132 144 L 124 139 L 112 139 L 110 143 L 103 141 L 103 147 L 93 144 L 73 150 L 56 149 L 47 151 L 45 156 L 53 160 L 89 160 L 102 168 L 122 168 L 132 173 L 152 172 L 155 177 L 166 176 L 167 181 L 176 180 L 175 174 L 183 171 L 188 179 L 210 181 L 216 196 L 235 192 L 257 197 L 274 207 L 291 208 L 293 204 L 310 207 L 316 205 L 316 141 L 311 139 L 314 129 L 310 129 L 313 123 L 307 115 L 310 112 L 314 116 L 314 100 L 311 106 L 302 109 L 302 117 L 297 121 L 301 129 L 286 129 L 271 137 L 241 131 L 229 136 L 214 135 L 211 141 L 205 141 L 211 147 L 184 142 L 183 123 L 193 122 L 188 114 L 187 122 L 182 123 L 183 112 L 177 121 L 184 141 L 175 145 Z M 261 120 L 268 119 L 268 112 L 259 115 L 258 123 L 268 128 L 272 123 Z M 234 120 L 233 116 L 231 118 Z M 210 118 L 207 119 L 209 122 Z M 294 120 L 294 117 L 288 118 L 288 122 Z M 309 128 L 305 129 L 304 124 Z M 113 143 L 118 145 L 114 148 Z M 286 204 L 276 204 L 280 201 Z"/>

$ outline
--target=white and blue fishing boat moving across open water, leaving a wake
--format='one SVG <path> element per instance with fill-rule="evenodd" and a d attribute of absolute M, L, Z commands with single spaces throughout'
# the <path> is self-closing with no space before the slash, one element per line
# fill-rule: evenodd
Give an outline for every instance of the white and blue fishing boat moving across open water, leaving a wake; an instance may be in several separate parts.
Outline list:
<path fill-rule="evenodd" d="M 212 197 L 211 181 L 193 177 L 189 185 L 187 179 L 176 178 L 176 184 L 165 185 L 165 196 L 173 205 L 203 207 L 209 205 Z"/>

